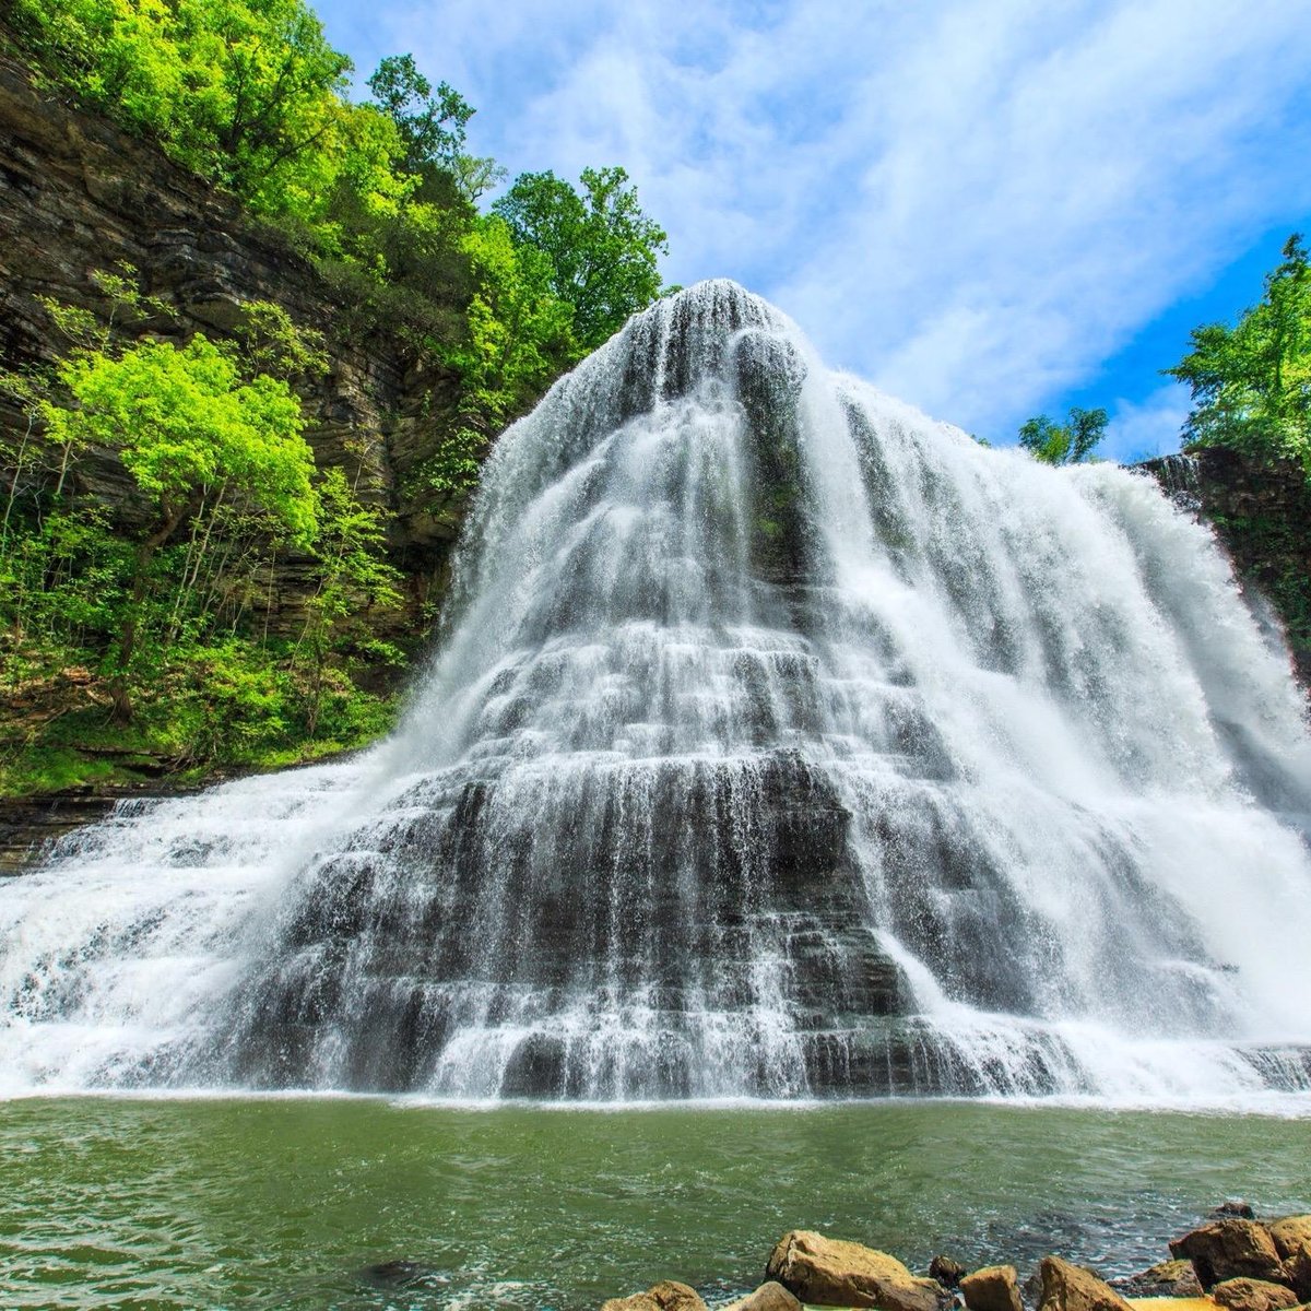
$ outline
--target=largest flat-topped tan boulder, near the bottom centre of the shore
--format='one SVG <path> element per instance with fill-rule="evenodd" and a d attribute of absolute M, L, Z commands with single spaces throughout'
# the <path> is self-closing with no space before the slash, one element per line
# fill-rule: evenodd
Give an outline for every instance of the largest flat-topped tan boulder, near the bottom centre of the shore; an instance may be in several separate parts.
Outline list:
<path fill-rule="evenodd" d="M 895 1256 L 812 1230 L 785 1234 L 770 1253 L 766 1278 L 802 1302 L 880 1311 L 939 1311 L 943 1290 L 920 1280 Z"/>

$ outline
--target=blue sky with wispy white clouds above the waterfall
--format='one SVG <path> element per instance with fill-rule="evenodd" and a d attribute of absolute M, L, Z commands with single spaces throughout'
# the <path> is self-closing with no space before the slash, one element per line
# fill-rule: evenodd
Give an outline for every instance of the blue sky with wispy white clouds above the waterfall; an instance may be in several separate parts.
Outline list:
<path fill-rule="evenodd" d="M 623 164 L 665 277 L 995 444 L 1068 406 L 1179 447 L 1160 370 L 1311 231 L 1311 0 L 317 0 L 514 176 Z"/>

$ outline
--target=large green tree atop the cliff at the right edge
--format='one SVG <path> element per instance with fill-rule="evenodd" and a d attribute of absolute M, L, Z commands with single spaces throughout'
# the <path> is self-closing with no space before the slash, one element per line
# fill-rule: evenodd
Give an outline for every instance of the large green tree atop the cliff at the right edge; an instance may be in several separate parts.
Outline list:
<path fill-rule="evenodd" d="M 1193 395 L 1193 446 L 1228 446 L 1299 460 L 1311 476 L 1311 273 L 1294 233 L 1265 294 L 1232 326 L 1206 324 L 1164 372 Z"/>

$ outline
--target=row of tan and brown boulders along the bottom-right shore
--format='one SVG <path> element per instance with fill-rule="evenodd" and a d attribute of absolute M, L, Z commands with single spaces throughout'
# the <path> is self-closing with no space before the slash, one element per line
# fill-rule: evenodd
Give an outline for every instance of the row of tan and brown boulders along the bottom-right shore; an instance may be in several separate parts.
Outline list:
<path fill-rule="evenodd" d="M 1311 1215 L 1259 1221 L 1226 1202 L 1211 1221 L 1169 1244 L 1169 1260 L 1114 1283 L 1059 1256 L 1021 1282 L 1015 1265 L 968 1270 L 937 1256 L 918 1276 L 895 1256 L 810 1230 L 775 1245 L 755 1291 L 720 1311 L 802 1311 L 805 1306 L 877 1311 L 1293 1311 L 1311 1306 Z M 690 1285 L 665 1280 L 611 1298 L 602 1311 L 707 1311 Z"/>

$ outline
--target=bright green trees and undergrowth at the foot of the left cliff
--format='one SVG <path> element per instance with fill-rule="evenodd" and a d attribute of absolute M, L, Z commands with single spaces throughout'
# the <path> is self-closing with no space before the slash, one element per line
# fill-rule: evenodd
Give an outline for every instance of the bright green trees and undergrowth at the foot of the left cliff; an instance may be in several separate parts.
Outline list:
<path fill-rule="evenodd" d="M 385 701 L 353 675 L 400 659 L 370 628 L 400 606 L 382 511 L 316 472 L 288 376 L 321 367 L 271 304 L 231 342 L 131 337 L 161 307 L 101 275 L 113 311 L 49 304 L 68 341 L 43 374 L 0 376 L 30 422 L 0 527 L 0 791 L 77 775 L 269 764 L 354 746 Z M 125 340 L 126 338 L 126 340 Z M 89 465 L 130 479 L 114 519 Z M 357 472 L 357 481 L 358 481 Z M 270 636 L 279 565 L 308 572 Z M 89 764 L 88 764 L 89 756 Z"/>

